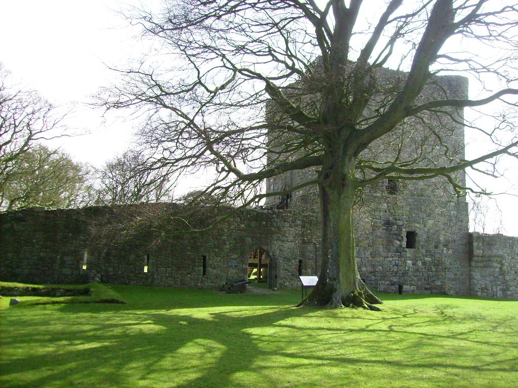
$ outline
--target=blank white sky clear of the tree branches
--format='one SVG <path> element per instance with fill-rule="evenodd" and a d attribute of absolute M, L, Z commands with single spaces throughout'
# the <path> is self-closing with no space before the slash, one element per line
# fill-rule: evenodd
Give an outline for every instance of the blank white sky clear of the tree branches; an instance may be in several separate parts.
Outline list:
<path fill-rule="evenodd" d="M 0 62 L 24 87 L 72 110 L 66 124 L 87 135 L 52 145 L 94 166 L 131 147 L 134 122 L 113 115 L 103 118 L 102 110 L 87 105 L 90 96 L 113 78 L 107 65 L 123 66 L 145 50 L 134 38 L 138 29 L 128 26 L 116 12 L 128 3 L 138 5 L 136 0 L 0 0 Z M 480 148 L 468 144 L 468 156 L 480 155 Z M 492 191 L 516 192 L 518 170 L 508 168 L 505 178 L 486 184 Z M 515 198 L 499 196 L 497 201 L 503 211 L 502 232 L 518 235 Z M 498 221 L 500 215 L 487 217 Z M 493 232 L 489 224 L 486 232 Z"/>

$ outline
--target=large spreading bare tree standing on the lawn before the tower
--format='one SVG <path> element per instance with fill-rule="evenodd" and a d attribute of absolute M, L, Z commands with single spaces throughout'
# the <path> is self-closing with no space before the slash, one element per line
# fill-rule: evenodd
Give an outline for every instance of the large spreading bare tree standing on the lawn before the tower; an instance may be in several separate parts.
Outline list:
<path fill-rule="evenodd" d="M 355 195 L 386 178 L 433 177 L 463 195 L 464 169 L 492 174 L 495 157 L 516 156 L 516 104 L 506 97 L 518 94 L 518 10 L 488 0 L 363 3 L 182 0 L 140 10 L 133 20 L 162 55 L 119 70 L 125 82 L 99 103 L 148 112 L 140 135 L 155 166 L 214 169 L 205 190 L 213 198 L 247 206 L 317 185 L 323 265 L 305 303 L 378 309 L 356 267 Z M 498 55 L 479 55 L 492 48 Z M 439 76 L 456 72 L 478 84 L 480 98 L 444 87 Z M 448 139 L 465 108 L 493 101 L 507 104 L 493 127 L 466 127 L 493 150 L 466 160 Z M 261 192 L 268 178 L 307 169 L 308 179 Z"/>

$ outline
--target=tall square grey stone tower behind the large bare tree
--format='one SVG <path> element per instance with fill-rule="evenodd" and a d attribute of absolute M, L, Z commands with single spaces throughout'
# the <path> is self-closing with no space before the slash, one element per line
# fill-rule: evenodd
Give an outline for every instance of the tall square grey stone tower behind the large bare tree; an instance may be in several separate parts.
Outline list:
<path fill-rule="evenodd" d="M 380 88 L 397 84 L 396 72 L 380 69 Z M 422 92 L 420 102 L 430 96 L 467 98 L 467 79 L 435 77 Z M 375 97 L 382 99 L 383 95 Z M 449 159 L 464 159 L 464 127 L 461 111 L 413 118 L 390 137 L 371 144 L 360 158 L 366 160 L 411 160 L 412 166 L 449 165 Z M 368 115 L 368 113 L 366 113 Z M 433 126 L 437 136 L 429 136 L 423 126 Z M 428 128 L 425 128 L 428 129 Z M 275 136 L 275 135 L 274 135 Z M 382 140 L 382 141 L 380 141 Z M 400 146 L 400 144 L 403 144 Z M 366 174 L 369 174 L 367 171 Z M 372 175 L 372 174 L 371 174 Z M 298 170 L 270 178 L 269 192 L 300 185 L 315 172 Z M 464 172 L 456 180 L 465 187 Z M 370 289 L 385 292 L 447 293 L 467 295 L 469 279 L 468 204 L 457 197 L 441 177 L 423 181 L 387 179 L 363 193 L 356 212 L 355 241 L 359 274 Z M 290 198 L 288 198 L 290 197 Z M 297 201 L 299 199 L 299 201 Z M 270 198 L 267 205 L 291 200 L 292 206 L 318 209 L 318 195 L 311 191 Z M 317 216 L 318 212 L 314 212 Z"/>

